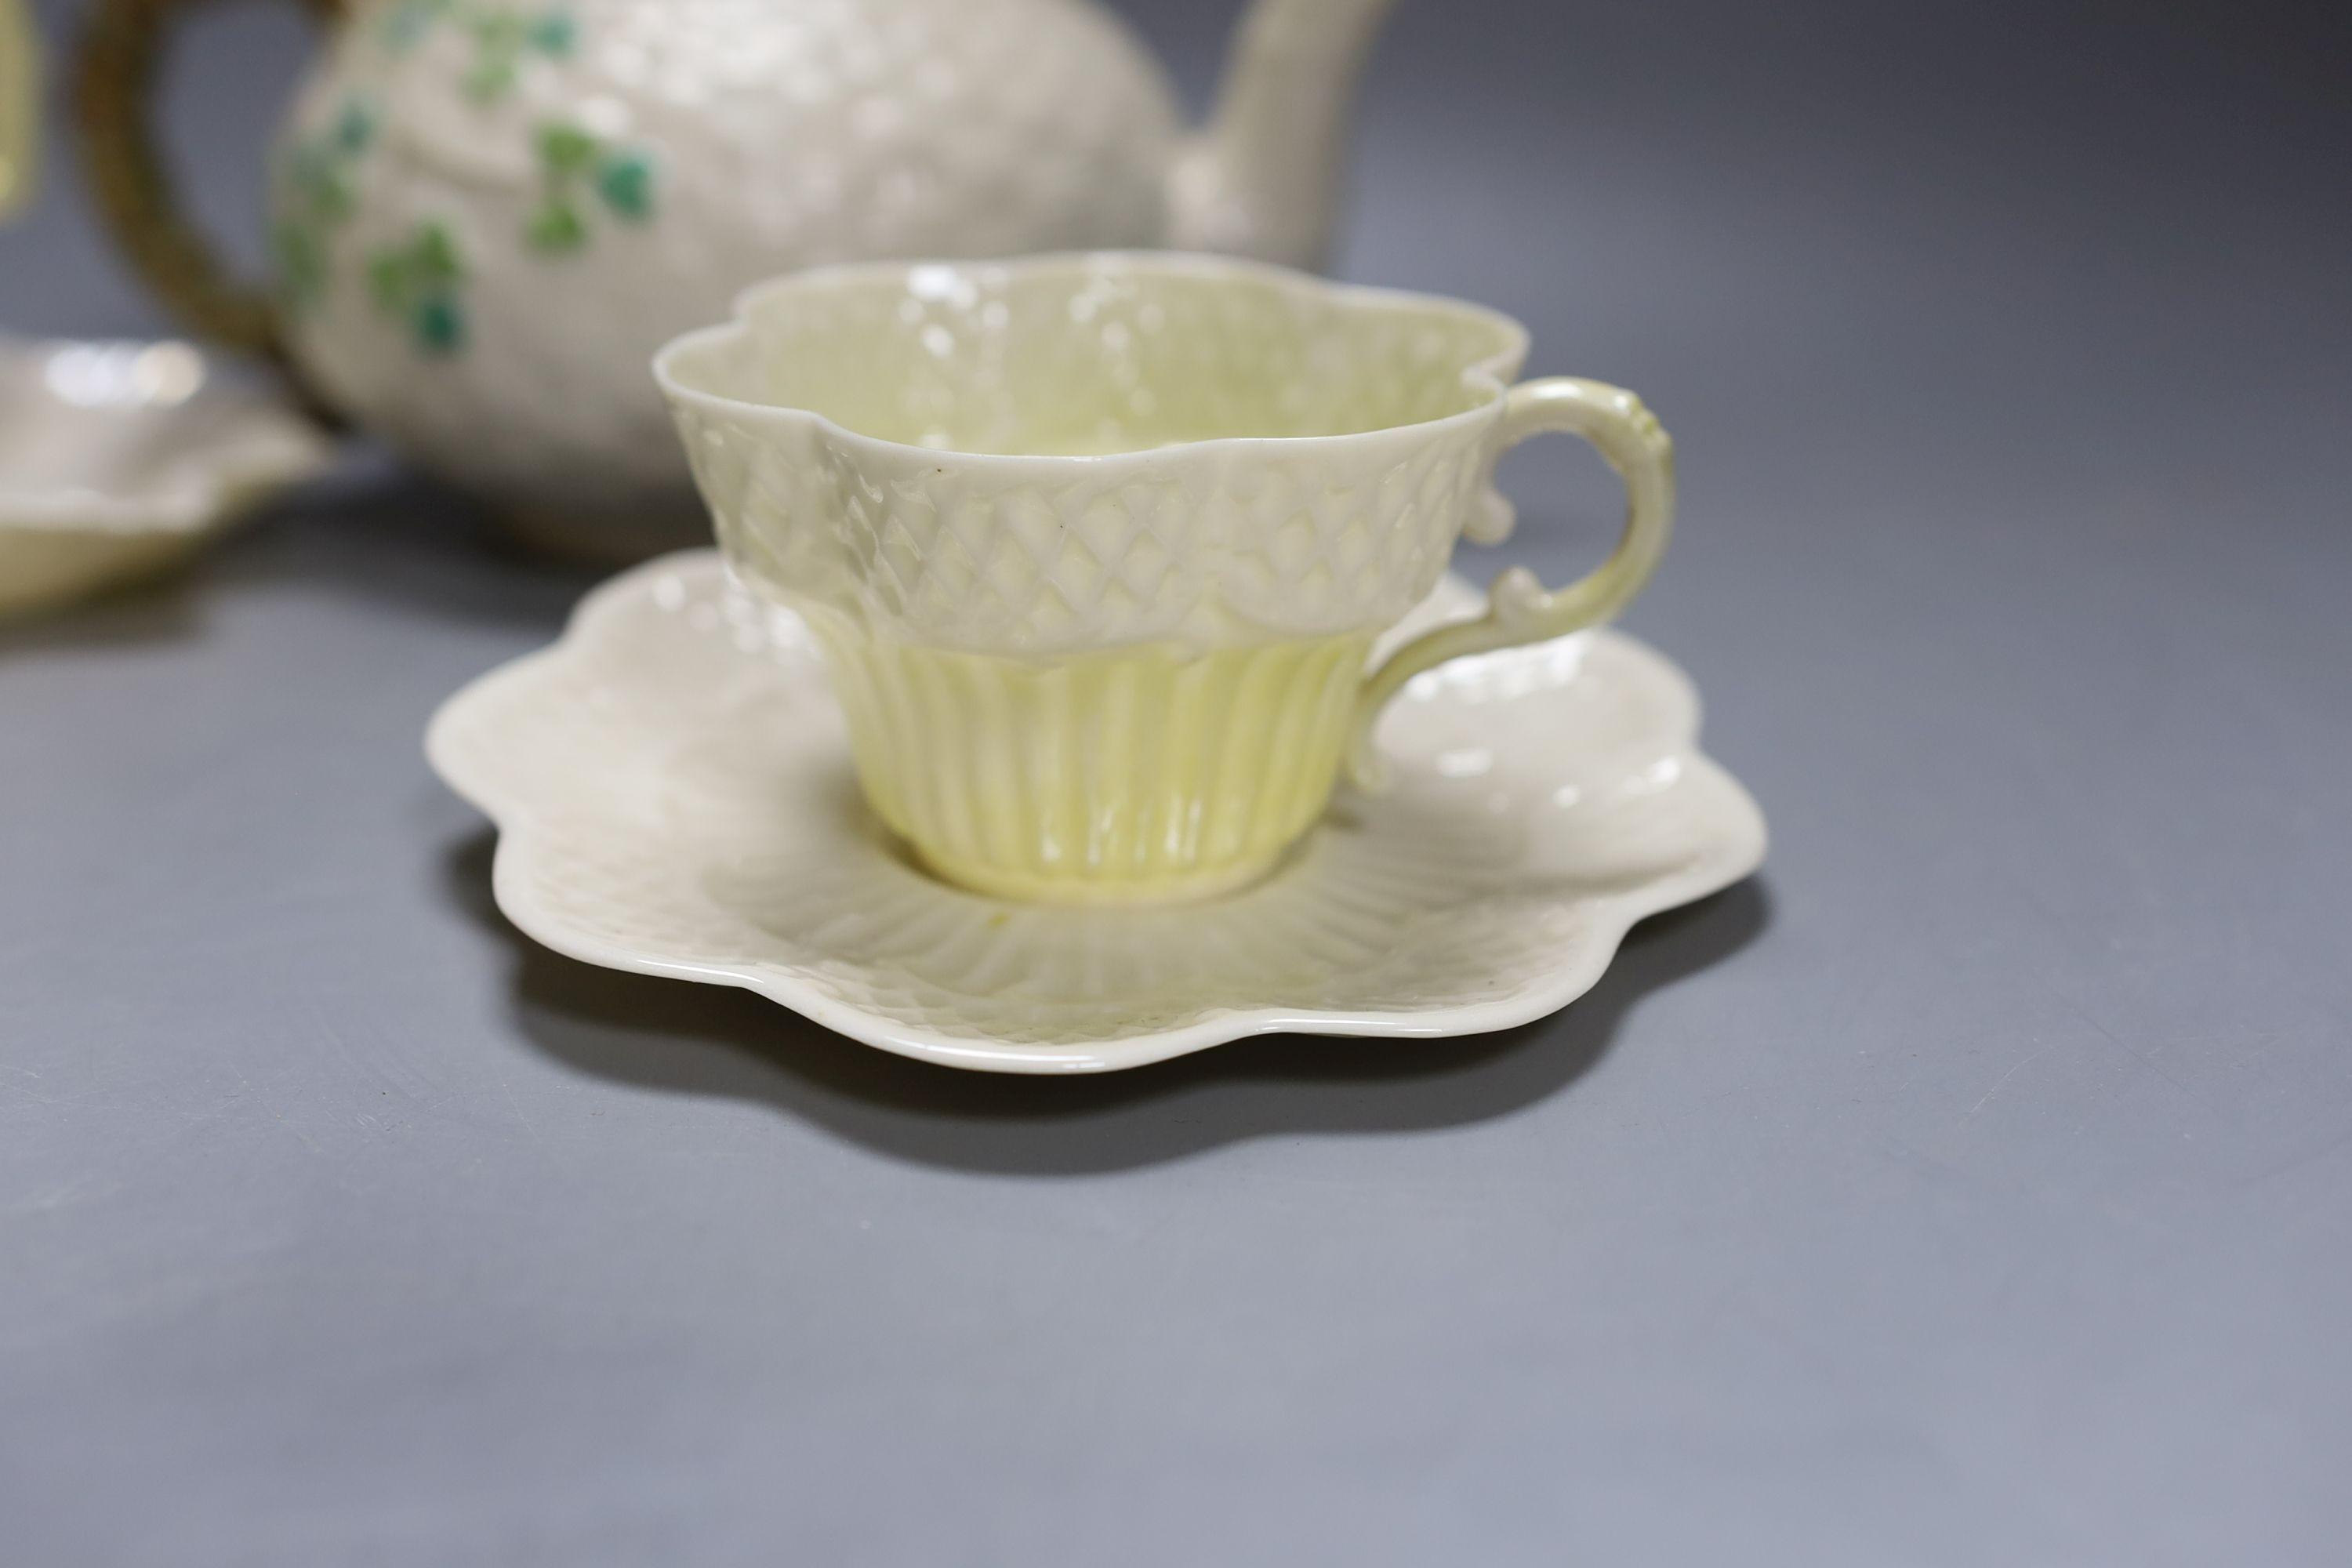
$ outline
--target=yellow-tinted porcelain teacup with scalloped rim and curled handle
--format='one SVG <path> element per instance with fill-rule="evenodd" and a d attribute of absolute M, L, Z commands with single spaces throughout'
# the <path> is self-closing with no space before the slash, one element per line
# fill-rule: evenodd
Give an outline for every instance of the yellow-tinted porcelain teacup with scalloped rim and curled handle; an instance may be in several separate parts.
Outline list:
<path fill-rule="evenodd" d="M 797 273 L 656 376 L 734 569 L 826 649 L 868 802 L 1004 898 L 1197 898 L 1261 877 L 1418 670 L 1618 611 L 1672 524 L 1625 390 L 1510 386 L 1526 331 L 1446 299 L 1178 254 Z M 1545 592 L 1374 639 L 1541 430 L 1625 477 L 1625 536 Z"/>

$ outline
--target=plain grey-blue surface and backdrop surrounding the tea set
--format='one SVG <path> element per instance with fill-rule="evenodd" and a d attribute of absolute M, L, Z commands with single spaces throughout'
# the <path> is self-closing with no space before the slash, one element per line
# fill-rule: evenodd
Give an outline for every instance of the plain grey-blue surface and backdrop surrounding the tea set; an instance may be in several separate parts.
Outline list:
<path fill-rule="evenodd" d="M 1512 1034 L 995 1081 L 529 947 L 419 731 L 583 578 L 381 461 L 0 632 L 5 1556 L 2352 1561 L 2303 9 L 1406 0 L 1343 270 L 1651 397 L 1776 832 Z M 174 75 L 240 237 L 303 40 Z M 160 324 L 64 179 L 0 322 Z M 1597 555 L 1505 482 L 1472 569 Z"/>

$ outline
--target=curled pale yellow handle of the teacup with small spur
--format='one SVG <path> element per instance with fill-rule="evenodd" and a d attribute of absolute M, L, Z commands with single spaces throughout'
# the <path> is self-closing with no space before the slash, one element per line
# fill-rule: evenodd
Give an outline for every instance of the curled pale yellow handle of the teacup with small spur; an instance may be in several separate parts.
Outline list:
<path fill-rule="evenodd" d="M 1668 534 L 1675 531 L 1675 442 L 1658 416 L 1621 386 L 1576 376 L 1522 381 L 1503 397 L 1494 456 L 1552 430 L 1592 442 L 1625 480 L 1625 534 L 1618 548 L 1592 574 L 1557 592 L 1548 592 L 1526 567 L 1505 569 L 1486 590 L 1484 616 L 1414 637 L 1364 677 L 1348 759 L 1348 776 L 1359 788 L 1378 790 L 1385 783 L 1388 769 L 1371 731 L 1404 682 L 1449 658 L 1550 642 L 1599 625 L 1625 609 L 1658 567 Z"/>

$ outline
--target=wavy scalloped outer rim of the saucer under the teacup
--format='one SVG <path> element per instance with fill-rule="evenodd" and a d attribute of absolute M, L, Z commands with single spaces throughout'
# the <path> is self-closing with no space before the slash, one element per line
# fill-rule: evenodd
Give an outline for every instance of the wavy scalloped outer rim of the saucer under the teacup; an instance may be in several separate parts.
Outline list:
<path fill-rule="evenodd" d="M 1696 865 L 1677 875 L 1644 882 L 1623 893 L 1578 900 L 1592 924 L 1588 938 L 1576 943 L 1573 959 L 1555 971 L 1545 971 L 1545 976 L 1522 985 L 1508 997 L 1414 1013 L 1272 1006 L 1211 1011 L 1178 1027 L 1143 1030 L 1082 1046 L 1035 1046 L 1007 1041 L 990 1044 L 983 1039 L 889 1020 L 863 1009 L 842 1006 L 840 1001 L 821 994 L 807 980 L 795 980 L 793 976 L 757 973 L 727 964 L 649 957 L 616 943 L 586 938 L 564 919 L 539 907 L 532 891 L 534 877 L 529 875 L 534 870 L 536 851 L 529 811 L 520 806 L 520 802 L 501 802 L 501 792 L 494 785 L 473 776 L 454 736 L 466 726 L 468 712 L 496 701 L 506 689 L 534 679 L 541 670 L 560 665 L 572 651 L 574 639 L 602 607 L 644 592 L 647 583 L 661 574 L 708 567 L 713 562 L 717 562 L 715 550 L 677 550 L 654 557 L 593 588 L 572 609 L 562 635 L 553 644 L 487 670 L 435 708 L 433 719 L 426 724 L 426 759 L 442 783 L 489 818 L 496 830 L 499 844 L 492 856 L 492 898 L 496 900 L 499 912 L 529 940 L 548 947 L 550 952 L 560 952 L 569 959 L 595 964 L 600 969 L 748 990 L 807 1018 L 809 1023 L 833 1030 L 835 1034 L 844 1034 L 858 1044 L 889 1051 L 894 1056 L 978 1072 L 1058 1077 L 1148 1067 L 1152 1063 L 1192 1056 L 1211 1046 L 1254 1039 L 1261 1034 L 1446 1039 L 1512 1030 L 1538 1018 L 1548 1018 L 1592 990 L 1609 971 L 1609 964 L 1616 961 L 1625 936 L 1637 924 L 1653 914 L 1698 903 L 1700 898 L 1736 886 L 1762 867 L 1769 849 L 1769 830 L 1764 825 L 1762 806 L 1757 806 L 1755 797 L 1745 785 L 1740 785 L 1738 778 L 1731 776 L 1729 769 L 1698 748 L 1703 715 L 1691 677 L 1684 675 L 1675 661 L 1665 658 L 1639 637 L 1630 637 L 1611 628 L 1595 628 L 1578 635 L 1618 644 L 1621 649 L 1635 654 L 1642 663 L 1651 665 L 1653 672 L 1679 686 L 1686 698 L 1689 722 L 1686 733 L 1679 736 L 1677 757 L 1684 766 L 1696 771 L 1710 790 L 1719 792 L 1724 811 L 1717 823 L 1712 853 L 1705 853 Z M 717 564 L 724 571 L 724 564 Z M 1456 599 L 1465 595 L 1477 599 L 1477 590 L 1451 574 L 1442 592 L 1449 592 Z"/>

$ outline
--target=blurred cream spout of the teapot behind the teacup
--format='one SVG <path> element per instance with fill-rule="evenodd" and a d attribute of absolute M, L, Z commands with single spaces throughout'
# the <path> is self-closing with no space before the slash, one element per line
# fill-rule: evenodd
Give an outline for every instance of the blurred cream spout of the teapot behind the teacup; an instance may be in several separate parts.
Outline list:
<path fill-rule="evenodd" d="M 1169 242 L 1319 268 L 1355 85 L 1395 0 L 1251 0 L 1209 125 L 1169 174 Z"/>

